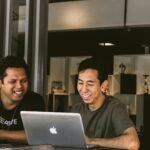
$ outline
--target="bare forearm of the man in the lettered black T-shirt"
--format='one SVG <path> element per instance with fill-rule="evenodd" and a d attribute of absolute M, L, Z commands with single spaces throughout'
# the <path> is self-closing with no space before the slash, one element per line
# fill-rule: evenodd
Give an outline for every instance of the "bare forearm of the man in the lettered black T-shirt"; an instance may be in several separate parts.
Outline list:
<path fill-rule="evenodd" d="M 20 131 L 0 130 L 0 140 L 7 140 L 9 142 L 20 142 L 20 143 L 27 142 L 24 130 Z"/>

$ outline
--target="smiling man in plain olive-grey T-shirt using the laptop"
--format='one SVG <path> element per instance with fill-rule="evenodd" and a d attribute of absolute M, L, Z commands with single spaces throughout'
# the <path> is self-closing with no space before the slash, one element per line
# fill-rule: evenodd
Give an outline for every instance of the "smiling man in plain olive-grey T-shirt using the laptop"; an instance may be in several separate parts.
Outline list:
<path fill-rule="evenodd" d="M 126 107 L 107 96 L 107 74 L 93 58 L 83 60 L 78 68 L 77 90 L 83 102 L 73 107 L 81 114 L 87 144 L 138 150 L 139 139 Z"/>

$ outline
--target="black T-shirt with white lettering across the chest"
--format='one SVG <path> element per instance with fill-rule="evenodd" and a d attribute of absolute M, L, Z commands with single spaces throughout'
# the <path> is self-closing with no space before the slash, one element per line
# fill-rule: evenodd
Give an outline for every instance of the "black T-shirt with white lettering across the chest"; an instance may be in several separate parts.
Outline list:
<path fill-rule="evenodd" d="M 45 111 L 44 99 L 41 95 L 28 91 L 21 102 L 13 109 L 6 110 L 0 100 L 0 129 L 23 130 L 20 111 Z"/>

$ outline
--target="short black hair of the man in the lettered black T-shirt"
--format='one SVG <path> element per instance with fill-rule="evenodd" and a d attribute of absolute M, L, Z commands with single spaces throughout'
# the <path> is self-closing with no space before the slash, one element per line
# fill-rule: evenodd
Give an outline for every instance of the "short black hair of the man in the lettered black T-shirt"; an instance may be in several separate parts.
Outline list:
<path fill-rule="evenodd" d="M 6 76 L 7 68 L 24 68 L 27 77 L 29 78 L 29 68 L 25 60 L 18 56 L 6 56 L 0 60 L 0 80 Z"/>

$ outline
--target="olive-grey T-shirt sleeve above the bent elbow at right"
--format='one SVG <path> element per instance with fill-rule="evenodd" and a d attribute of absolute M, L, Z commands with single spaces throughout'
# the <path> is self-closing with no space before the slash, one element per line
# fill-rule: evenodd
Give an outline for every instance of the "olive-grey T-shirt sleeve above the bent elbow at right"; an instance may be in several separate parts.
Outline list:
<path fill-rule="evenodd" d="M 117 135 L 121 135 L 127 128 L 134 127 L 125 105 L 118 103 L 112 111 L 113 127 Z"/>

